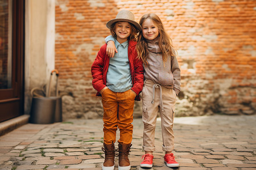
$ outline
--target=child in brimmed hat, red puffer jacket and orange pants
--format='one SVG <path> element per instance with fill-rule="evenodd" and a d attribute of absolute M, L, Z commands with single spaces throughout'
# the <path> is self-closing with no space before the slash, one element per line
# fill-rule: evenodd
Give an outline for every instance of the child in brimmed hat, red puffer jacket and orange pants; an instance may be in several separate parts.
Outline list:
<path fill-rule="evenodd" d="M 118 140 L 118 169 L 130 169 L 128 154 L 133 134 L 134 100 L 139 99 L 143 87 L 143 65 L 137 58 L 135 38 L 141 25 L 134 21 L 130 11 L 120 11 L 106 26 L 114 37 L 118 53 L 113 58 L 106 54 L 106 44 L 101 46 L 92 64 L 93 87 L 102 96 L 104 108 L 104 148 L 103 170 L 114 169 L 115 135 L 120 130 Z"/>

